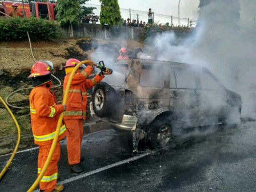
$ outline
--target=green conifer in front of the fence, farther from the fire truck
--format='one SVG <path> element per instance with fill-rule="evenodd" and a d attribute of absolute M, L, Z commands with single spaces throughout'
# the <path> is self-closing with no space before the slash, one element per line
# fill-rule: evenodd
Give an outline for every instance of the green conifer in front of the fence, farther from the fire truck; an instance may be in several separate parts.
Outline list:
<path fill-rule="evenodd" d="M 99 0 L 101 2 L 101 14 L 99 19 L 101 25 L 118 25 L 121 13 L 117 0 Z"/>

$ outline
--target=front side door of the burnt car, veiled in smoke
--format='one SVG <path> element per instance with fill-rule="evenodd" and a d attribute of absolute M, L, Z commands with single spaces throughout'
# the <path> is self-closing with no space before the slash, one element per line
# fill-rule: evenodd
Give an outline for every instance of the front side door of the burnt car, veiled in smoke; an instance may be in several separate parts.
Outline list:
<path fill-rule="evenodd" d="M 218 82 L 218 79 L 206 69 L 200 71 L 200 92 L 202 97 L 202 117 L 205 124 L 217 123 L 218 119 L 225 115 L 227 102 L 225 87 Z"/>

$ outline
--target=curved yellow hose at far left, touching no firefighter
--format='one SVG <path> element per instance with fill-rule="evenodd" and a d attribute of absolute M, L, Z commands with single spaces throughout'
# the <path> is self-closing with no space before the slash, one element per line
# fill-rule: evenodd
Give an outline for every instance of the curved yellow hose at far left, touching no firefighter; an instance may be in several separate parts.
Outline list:
<path fill-rule="evenodd" d="M 17 129 L 18 129 L 18 141 L 16 143 L 15 149 L 13 151 L 13 154 L 11 154 L 11 157 L 9 159 L 9 161 L 7 162 L 6 166 L 3 168 L 3 170 L 0 173 L 0 180 L 3 177 L 3 175 L 5 174 L 6 170 L 8 169 L 11 161 L 13 161 L 14 155 L 16 153 L 16 151 L 18 150 L 19 147 L 19 141 L 21 141 L 21 129 L 19 129 L 19 124 L 16 120 L 16 118 L 14 117 L 13 113 L 11 112 L 10 108 L 6 105 L 5 101 L 3 101 L 2 97 L 0 97 L 0 100 L 2 101 L 3 105 L 5 105 L 6 109 L 9 111 L 11 117 L 13 118 L 13 121 L 15 122 Z"/>

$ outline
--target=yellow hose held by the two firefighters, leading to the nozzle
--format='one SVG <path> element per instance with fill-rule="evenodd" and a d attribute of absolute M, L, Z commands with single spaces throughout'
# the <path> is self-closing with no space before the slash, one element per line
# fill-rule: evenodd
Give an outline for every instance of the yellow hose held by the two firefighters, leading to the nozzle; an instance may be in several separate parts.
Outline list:
<path fill-rule="evenodd" d="M 77 64 L 77 66 L 75 66 L 75 68 L 73 69 L 72 73 L 70 74 L 70 78 L 69 78 L 69 81 L 67 82 L 67 87 L 66 87 L 66 90 L 65 91 L 65 94 L 64 94 L 64 97 L 63 97 L 63 102 L 62 102 L 62 105 L 66 105 L 66 102 L 67 102 L 67 94 L 69 93 L 69 87 L 70 87 L 70 84 L 71 84 L 71 81 L 74 77 L 74 74 L 75 74 L 75 71 L 78 70 L 78 67 L 81 66 L 82 64 L 85 64 L 85 63 L 88 63 L 89 61 L 81 61 L 80 63 Z M 48 154 L 48 157 L 45 161 L 45 165 L 43 166 L 43 169 L 41 169 L 41 173 L 38 175 L 37 177 L 37 180 L 35 180 L 35 182 L 33 183 L 33 185 L 30 187 L 29 190 L 27 190 L 27 192 L 31 192 L 35 189 L 35 187 L 38 186 L 38 183 L 41 181 L 43 175 L 45 174 L 45 171 L 50 163 L 50 160 L 51 160 L 51 157 L 53 156 L 53 152 L 54 152 L 54 149 L 55 149 L 55 146 L 56 146 L 56 143 L 58 141 L 58 137 L 59 137 L 59 129 L 61 129 L 61 123 L 62 123 L 62 119 L 63 119 L 63 113 L 61 113 L 59 115 L 59 119 L 58 119 L 58 124 L 57 124 L 57 129 L 56 129 L 56 132 L 55 132 L 55 135 L 54 135 L 54 139 L 53 139 L 53 144 L 51 145 L 51 149 L 49 151 L 49 154 Z"/>

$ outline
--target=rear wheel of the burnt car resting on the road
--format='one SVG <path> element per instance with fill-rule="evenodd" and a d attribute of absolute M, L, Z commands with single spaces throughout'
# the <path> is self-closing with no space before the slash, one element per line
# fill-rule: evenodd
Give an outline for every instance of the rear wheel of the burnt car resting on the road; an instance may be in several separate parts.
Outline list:
<path fill-rule="evenodd" d="M 156 118 L 150 125 L 149 135 L 152 149 L 167 147 L 173 141 L 170 119 L 167 117 Z"/>

